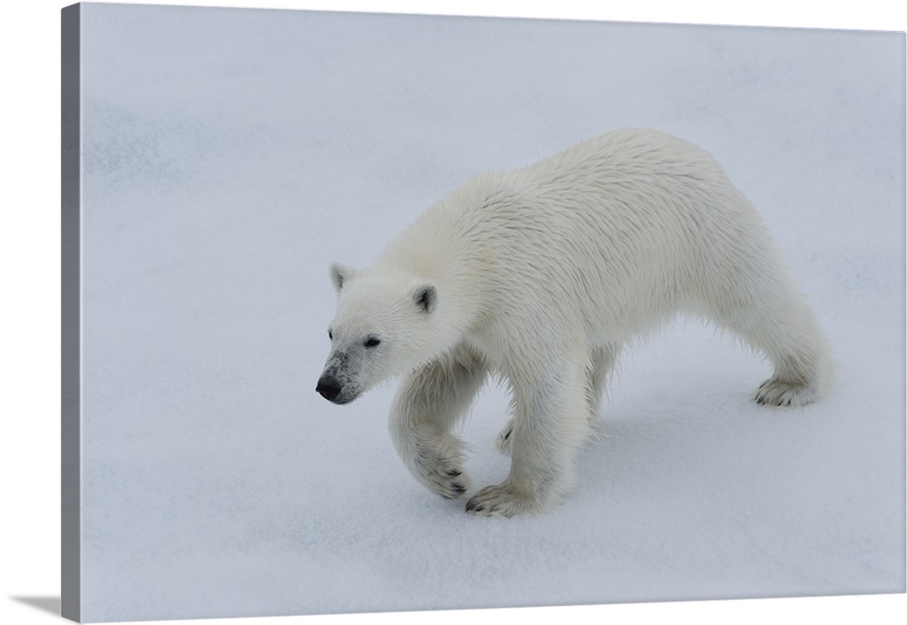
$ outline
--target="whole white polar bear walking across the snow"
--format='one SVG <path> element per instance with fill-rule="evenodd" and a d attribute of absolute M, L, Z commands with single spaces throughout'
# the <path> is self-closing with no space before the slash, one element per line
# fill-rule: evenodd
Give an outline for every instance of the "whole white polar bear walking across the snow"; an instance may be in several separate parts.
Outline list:
<path fill-rule="evenodd" d="M 512 394 L 503 483 L 469 513 L 562 501 L 621 346 L 679 312 L 764 354 L 765 405 L 827 386 L 824 334 L 766 224 L 702 149 L 664 132 L 610 132 L 522 169 L 480 175 L 362 271 L 330 269 L 337 308 L 317 392 L 346 404 L 403 376 L 397 452 L 430 491 L 470 491 L 452 427 L 489 375 Z"/>

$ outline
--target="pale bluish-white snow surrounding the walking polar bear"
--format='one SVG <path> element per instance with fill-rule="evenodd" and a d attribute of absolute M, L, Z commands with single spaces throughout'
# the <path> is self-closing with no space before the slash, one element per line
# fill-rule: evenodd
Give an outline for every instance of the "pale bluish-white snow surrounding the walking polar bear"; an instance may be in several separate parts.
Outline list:
<path fill-rule="evenodd" d="M 904 591 L 903 34 L 88 4 L 82 44 L 85 620 Z M 566 503 L 470 517 L 397 460 L 394 386 L 315 393 L 327 266 L 639 125 L 760 207 L 838 383 L 758 406 L 765 363 L 681 320 Z"/>

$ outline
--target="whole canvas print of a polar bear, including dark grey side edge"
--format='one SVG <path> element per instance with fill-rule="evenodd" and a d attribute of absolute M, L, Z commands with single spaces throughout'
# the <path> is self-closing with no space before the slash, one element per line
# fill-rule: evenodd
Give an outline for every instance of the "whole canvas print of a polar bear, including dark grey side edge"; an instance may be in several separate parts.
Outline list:
<path fill-rule="evenodd" d="M 63 10 L 63 615 L 898 593 L 903 33 Z"/>

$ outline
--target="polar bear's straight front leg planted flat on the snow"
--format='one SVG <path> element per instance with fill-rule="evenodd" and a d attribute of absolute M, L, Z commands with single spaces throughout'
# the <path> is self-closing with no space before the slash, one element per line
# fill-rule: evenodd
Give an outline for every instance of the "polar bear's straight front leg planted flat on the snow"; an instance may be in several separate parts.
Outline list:
<path fill-rule="evenodd" d="M 539 513 L 560 503 L 570 489 L 577 450 L 589 433 L 589 408 L 584 367 L 561 364 L 534 381 L 512 379 L 510 474 L 503 483 L 476 493 L 466 512 L 504 517 Z"/>

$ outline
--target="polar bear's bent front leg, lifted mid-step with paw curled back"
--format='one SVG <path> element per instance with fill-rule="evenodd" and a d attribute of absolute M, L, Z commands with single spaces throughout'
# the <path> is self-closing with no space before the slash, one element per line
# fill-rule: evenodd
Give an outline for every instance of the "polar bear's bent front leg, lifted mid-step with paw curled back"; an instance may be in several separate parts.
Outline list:
<path fill-rule="evenodd" d="M 394 398 L 390 431 L 397 454 L 428 490 L 447 499 L 463 496 L 463 443 L 451 434 L 482 387 L 485 368 L 471 352 L 450 355 L 414 371 Z"/>

